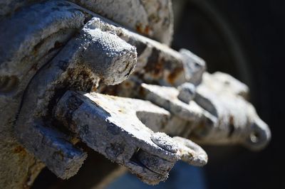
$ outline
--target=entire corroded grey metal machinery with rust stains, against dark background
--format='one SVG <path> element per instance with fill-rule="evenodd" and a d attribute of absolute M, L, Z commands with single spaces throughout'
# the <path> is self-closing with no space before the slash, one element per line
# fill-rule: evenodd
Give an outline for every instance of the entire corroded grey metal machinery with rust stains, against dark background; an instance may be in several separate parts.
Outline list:
<path fill-rule="evenodd" d="M 70 178 L 87 156 L 78 142 L 148 184 L 180 159 L 204 166 L 198 144 L 268 144 L 246 85 L 165 45 L 170 1 L 112 2 L 0 3 L 0 188 L 30 186 L 43 166 Z"/>

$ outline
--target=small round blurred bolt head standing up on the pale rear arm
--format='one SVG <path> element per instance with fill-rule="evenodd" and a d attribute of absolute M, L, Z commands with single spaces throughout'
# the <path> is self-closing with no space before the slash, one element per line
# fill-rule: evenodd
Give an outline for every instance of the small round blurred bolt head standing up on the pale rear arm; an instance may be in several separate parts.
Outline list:
<path fill-rule="evenodd" d="M 196 92 L 196 87 L 190 82 L 185 82 L 178 87 L 179 95 L 178 99 L 182 102 L 188 104 L 194 97 Z"/>

